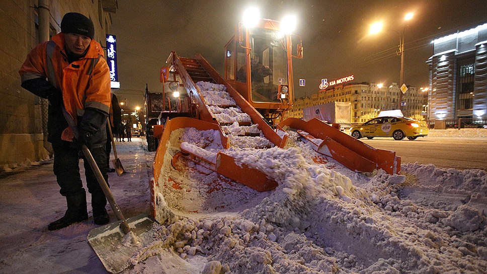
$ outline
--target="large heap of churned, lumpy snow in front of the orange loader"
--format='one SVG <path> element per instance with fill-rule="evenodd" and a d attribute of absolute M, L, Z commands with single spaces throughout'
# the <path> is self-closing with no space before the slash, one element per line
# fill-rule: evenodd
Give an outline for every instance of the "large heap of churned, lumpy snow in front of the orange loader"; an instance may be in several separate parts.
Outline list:
<path fill-rule="evenodd" d="M 402 175 L 342 172 L 333 160 L 315 163 L 311 145 L 286 133 L 284 149 L 223 150 L 278 182 L 274 191 L 259 193 L 165 161 L 157 192 L 169 208 L 158 210 L 172 218 L 154 226 L 154 243 L 139 253 L 150 255 L 135 257 L 132 271 L 147 270 L 150 256 L 170 252 L 205 274 L 487 269 L 487 218 L 479 210 L 487 204 L 485 172 L 416 164 L 404 165 Z M 218 142 L 214 132 L 177 130 L 167 159 L 183 140 L 220 146 L 207 143 Z M 436 196 L 420 199 L 424 191 Z"/>

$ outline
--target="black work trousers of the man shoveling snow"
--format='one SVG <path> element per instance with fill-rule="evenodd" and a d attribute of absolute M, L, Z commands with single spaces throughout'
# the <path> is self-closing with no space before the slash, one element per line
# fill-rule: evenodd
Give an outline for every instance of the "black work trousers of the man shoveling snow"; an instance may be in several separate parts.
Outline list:
<path fill-rule="evenodd" d="M 52 149 L 54 151 L 54 174 L 56 175 L 57 183 L 61 187 L 61 190 L 59 190 L 61 195 L 71 196 L 85 193 L 83 182 L 79 174 L 79 150 L 70 147 L 69 142 L 64 141 L 62 141 L 61 144 L 52 143 Z M 105 181 L 108 183 L 106 147 L 101 146 L 99 148 L 91 148 L 90 152 L 93 155 L 98 168 L 100 168 L 103 178 L 105 178 Z M 84 157 L 85 156 L 83 156 L 83 158 Z M 87 160 L 84 160 L 84 167 L 88 192 L 92 194 L 103 193 L 103 190 L 95 177 L 95 173 Z"/>

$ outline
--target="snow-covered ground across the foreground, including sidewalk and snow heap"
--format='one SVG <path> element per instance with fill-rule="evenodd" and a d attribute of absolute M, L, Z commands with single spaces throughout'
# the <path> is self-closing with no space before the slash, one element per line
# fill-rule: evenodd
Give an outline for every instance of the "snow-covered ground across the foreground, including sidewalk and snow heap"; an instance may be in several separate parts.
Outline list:
<path fill-rule="evenodd" d="M 274 178 L 279 183 L 274 191 L 164 166 L 160 184 L 172 181 L 160 192 L 175 216 L 154 225 L 156 244 L 138 246 L 139 255 L 123 272 L 485 273 L 484 171 L 403 162 L 401 175 L 360 174 L 320 158 L 295 132 L 288 133 L 284 149 L 227 151 Z M 173 135 L 169 154 L 182 142 L 219 149 L 212 132 L 187 129 Z M 144 139 L 133 140 L 117 143 L 127 174 L 111 173 L 109 179 L 126 217 L 149 208 L 155 154 L 146 151 Z M 92 218 L 47 231 L 65 207 L 52 161 L 11 169 L 0 174 L 0 272 L 104 272 L 86 240 L 97 227 Z"/>

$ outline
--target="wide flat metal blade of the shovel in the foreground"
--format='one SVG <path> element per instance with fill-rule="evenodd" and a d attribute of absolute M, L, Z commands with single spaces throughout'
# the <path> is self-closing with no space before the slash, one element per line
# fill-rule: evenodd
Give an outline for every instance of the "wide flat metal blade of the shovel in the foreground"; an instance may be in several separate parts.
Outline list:
<path fill-rule="evenodd" d="M 152 241 L 149 231 L 156 221 L 148 213 L 125 220 L 139 240 L 139 244 L 132 244 L 130 238 L 122 232 L 120 228 L 122 221 L 95 228 L 87 236 L 91 247 L 110 273 L 120 273 L 127 268 L 130 265 L 130 258 L 139 248 Z"/>

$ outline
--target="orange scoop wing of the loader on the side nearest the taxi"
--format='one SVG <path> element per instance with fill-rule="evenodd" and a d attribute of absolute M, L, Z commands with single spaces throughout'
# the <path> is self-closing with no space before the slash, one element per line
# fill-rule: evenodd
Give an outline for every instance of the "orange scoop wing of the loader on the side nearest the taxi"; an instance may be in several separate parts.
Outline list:
<path fill-rule="evenodd" d="M 389 174 L 400 173 L 400 157 L 395 156 L 395 152 L 374 149 L 319 119 L 313 118 L 306 122 L 287 118 L 279 126 L 303 130 L 313 138 L 323 140 L 316 144 L 316 151 L 332 157 L 353 171 L 371 172 L 374 169 L 383 169 Z M 302 132 L 301 135 L 306 138 L 305 133 Z"/>

